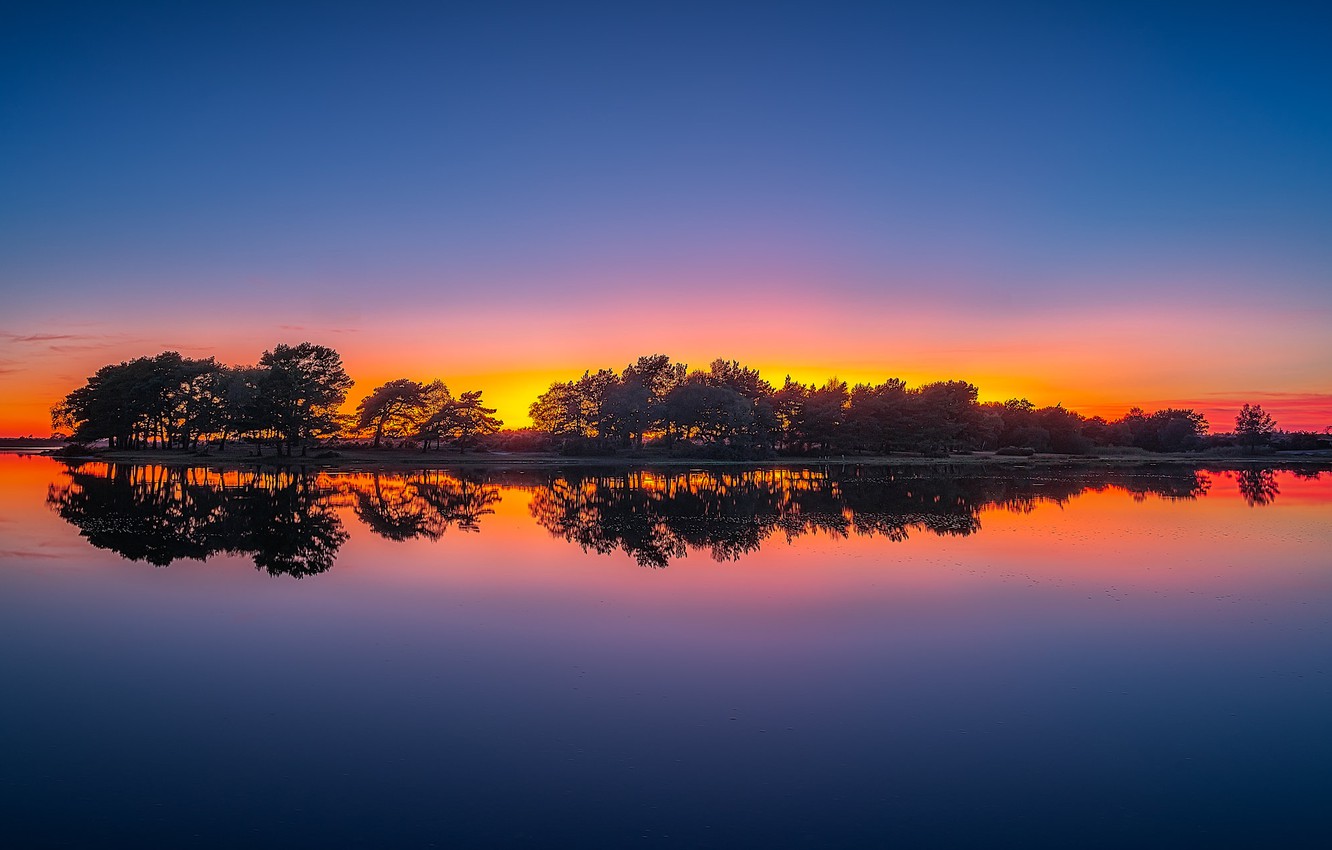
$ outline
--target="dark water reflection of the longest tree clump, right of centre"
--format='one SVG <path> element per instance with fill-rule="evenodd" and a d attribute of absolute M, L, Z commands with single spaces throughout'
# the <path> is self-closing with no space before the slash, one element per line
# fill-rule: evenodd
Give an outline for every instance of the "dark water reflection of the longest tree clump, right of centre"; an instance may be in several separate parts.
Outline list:
<path fill-rule="evenodd" d="M 663 568 L 689 550 L 717 561 L 755 552 L 773 534 L 863 536 L 904 541 L 912 533 L 966 536 L 988 508 L 1030 512 L 1087 489 L 1118 486 L 1135 498 L 1196 498 L 1211 480 L 1196 470 L 1038 476 L 976 468 L 922 470 L 750 469 L 553 474 L 534 488 L 533 518 L 589 552 L 623 552 Z"/>

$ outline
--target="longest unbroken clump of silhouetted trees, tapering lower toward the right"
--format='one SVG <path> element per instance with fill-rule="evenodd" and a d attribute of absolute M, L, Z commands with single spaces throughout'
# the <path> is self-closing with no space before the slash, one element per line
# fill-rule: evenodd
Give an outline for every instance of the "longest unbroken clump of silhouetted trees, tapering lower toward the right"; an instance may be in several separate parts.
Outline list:
<path fill-rule="evenodd" d="M 758 370 L 715 360 L 690 370 L 665 354 L 639 357 L 622 372 L 587 370 L 555 382 L 533 402 L 535 428 L 569 454 L 639 448 L 645 440 L 682 453 L 763 457 L 974 449 L 1082 454 L 1098 446 L 1185 452 L 1203 446 L 1207 418 L 1191 409 L 1139 408 L 1107 421 L 1024 398 L 980 402 L 962 380 L 910 386 L 801 384 L 781 388 Z"/>

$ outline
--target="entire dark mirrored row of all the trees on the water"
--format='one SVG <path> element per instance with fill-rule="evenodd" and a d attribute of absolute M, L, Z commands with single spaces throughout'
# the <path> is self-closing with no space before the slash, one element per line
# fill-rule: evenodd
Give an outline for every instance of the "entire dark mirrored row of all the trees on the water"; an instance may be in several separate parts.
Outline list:
<path fill-rule="evenodd" d="M 1269 505 L 1280 494 L 1272 469 L 1228 474 L 1249 505 Z M 244 556 L 269 574 L 300 578 L 333 566 L 350 537 L 349 516 L 384 540 L 438 541 L 450 529 L 480 530 L 505 489 L 530 496 L 531 518 L 551 537 L 665 568 L 693 552 L 735 561 L 774 538 L 809 534 L 967 536 L 995 508 L 1030 512 L 1107 489 L 1138 500 L 1193 500 L 1212 485 L 1208 472 L 1159 466 L 332 474 L 87 462 L 71 465 L 47 501 L 89 544 L 132 561 L 166 566 Z"/>

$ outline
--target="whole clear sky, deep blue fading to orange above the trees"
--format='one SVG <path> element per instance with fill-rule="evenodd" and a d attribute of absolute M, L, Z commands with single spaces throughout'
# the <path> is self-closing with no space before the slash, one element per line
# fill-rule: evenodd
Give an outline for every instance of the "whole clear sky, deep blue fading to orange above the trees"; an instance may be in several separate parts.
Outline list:
<path fill-rule="evenodd" d="M 8 4 L 0 434 L 302 340 L 350 402 L 514 426 L 661 352 L 1321 430 L 1329 43 L 1316 3 Z"/>

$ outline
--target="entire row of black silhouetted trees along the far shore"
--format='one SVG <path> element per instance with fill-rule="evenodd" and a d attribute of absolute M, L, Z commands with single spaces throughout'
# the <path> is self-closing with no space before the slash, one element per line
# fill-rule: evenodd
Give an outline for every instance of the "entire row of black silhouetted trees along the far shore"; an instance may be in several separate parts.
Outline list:
<path fill-rule="evenodd" d="M 503 422 L 481 390 L 454 396 L 441 380 L 394 378 L 342 414 L 352 378 L 336 350 L 312 342 L 277 345 L 256 365 L 228 366 L 177 352 L 107 365 L 52 409 L 57 432 L 113 449 L 225 448 L 290 456 L 332 437 L 386 440 L 429 450 L 445 446 L 613 454 L 654 446 L 670 454 L 750 460 L 911 452 L 1055 452 L 1106 446 L 1189 452 L 1216 444 L 1207 418 L 1188 408 L 1134 408 L 1115 420 L 1026 398 L 980 402 L 963 380 L 910 386 L 900 378 L 855 384 L 830 378 L 781 386 L 734 360 L 690 369 L 666 354 L 639 357 L 619 372 L 586 370 L 557 381 L 530 406 L 531 429 Z M 1277 434 L 1272 417 L 1245 405 L 1232 441 L 1247 449 Z M 1317 434 L 1307 434 L 1317 444 Z M 1303 446 L 1292 446 L 1303 448 Z M 1319 448 L 1312 445 L 1309 448 Z"/>

